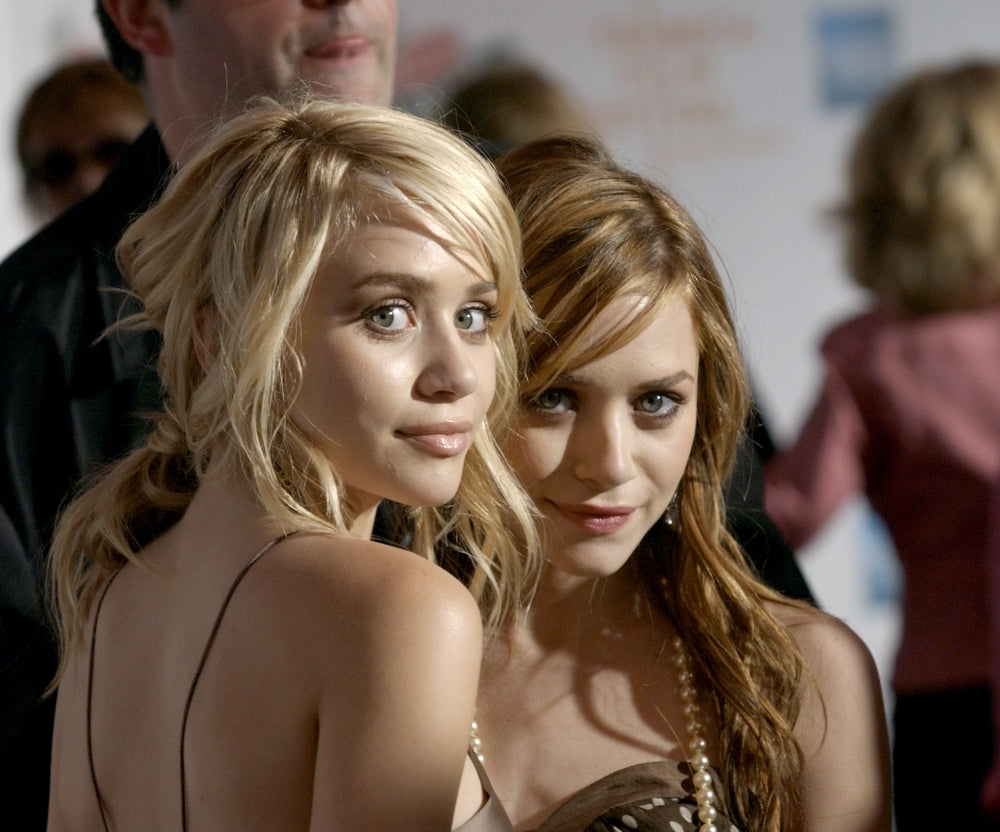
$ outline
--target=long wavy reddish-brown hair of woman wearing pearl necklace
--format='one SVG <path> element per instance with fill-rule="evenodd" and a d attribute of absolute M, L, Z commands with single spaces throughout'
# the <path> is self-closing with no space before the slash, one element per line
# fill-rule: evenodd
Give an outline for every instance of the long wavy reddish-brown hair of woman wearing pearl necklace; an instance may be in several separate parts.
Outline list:
<path fill-rule="evenodd" d="M 579 137 L 525 145 L 498 160 L 521 221 L 525 288 L 544 332 L 529 338 L 522 400 L 619 349 L 678 293 L 700 356 L 697 427 L 678 489 L 679 532 L 658 523 L 634 557 L 688 647 L 720 726 L 727 803 L 744 829 L 796 828 L 801 752 L 792 734 L 802 659 L 763 607 L 778 600 L 746 567 L 725 528 L 723 483 L 749 391 L 722 281 L 687 211 Z M 583 348 L 615 299 L 648 302 Z M 513 441 L 517 441 L 514 439 Z"/>

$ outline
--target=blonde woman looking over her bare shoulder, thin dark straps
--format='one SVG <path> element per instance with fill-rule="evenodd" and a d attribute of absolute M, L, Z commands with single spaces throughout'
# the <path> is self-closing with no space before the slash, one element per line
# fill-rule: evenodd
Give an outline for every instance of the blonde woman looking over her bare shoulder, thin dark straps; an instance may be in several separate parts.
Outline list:
<path fill-rule="evenodd" d="M 128 229 L 165 405 L 55 535 L 50 830 L 505 828 L 467 752 L 482 622 L 532 575 L 492 438 L 518 240 L 460 140 L 309 100 L 220 128 Z M 384 499 L 415 552 L 369 541 Z"/>

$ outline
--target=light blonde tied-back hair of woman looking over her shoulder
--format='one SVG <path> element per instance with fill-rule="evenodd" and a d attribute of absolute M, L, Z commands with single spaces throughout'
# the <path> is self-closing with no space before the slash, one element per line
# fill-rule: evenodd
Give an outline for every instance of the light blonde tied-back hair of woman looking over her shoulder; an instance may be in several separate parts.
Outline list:
<path fill-rule="evenodd" d="M 489 628 L 521 601 L 537 549 L 532 507 L 492 429 L 516 396 L 534 318 L 518 280 L 516 218 L 494 170 L 444 129 L 401 112 L 268 99 L 222 126 L 118 246 L 144 304 L 139 323 L 163 337 L 164 412 L 146 444 L 60 519 L 50 574 L 64 654 L 113 572 L 184 512 L 210 458 L 237 465 L 286 530 L 346 531 L 338 472 L 290 418 L 302 374 L 296 326 L 321 263 L 360 225 L 394 212 L 443 228 L 498 289 L 489 424 L 474 435 L 454 500 L 412 510 L 414 548 L 433 559 L 449 537 L 470 560 Z"/>

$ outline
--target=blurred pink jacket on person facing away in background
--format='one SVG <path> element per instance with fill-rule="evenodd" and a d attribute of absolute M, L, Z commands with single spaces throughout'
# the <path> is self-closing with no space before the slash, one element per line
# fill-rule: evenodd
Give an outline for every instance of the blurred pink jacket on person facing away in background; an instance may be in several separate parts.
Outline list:
<path fill-rule="evenodd" d="M 1000 618 L 988 588 L 1000 553 L 987 543 L 1000 481 L 1000 309 L 918 319 L 876 309 L 837 326 L 822 353 L 813 411 L 768 464 L 768 513 L 801 546 L 847 497 L 866 494 L 904 577 L 894 689 L 986 684 Z"/>

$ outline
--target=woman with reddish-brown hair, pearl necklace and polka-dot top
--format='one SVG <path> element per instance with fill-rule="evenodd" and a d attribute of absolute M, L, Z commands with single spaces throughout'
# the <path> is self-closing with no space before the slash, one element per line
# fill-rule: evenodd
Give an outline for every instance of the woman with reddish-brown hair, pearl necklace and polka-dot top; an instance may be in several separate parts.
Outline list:
<path fill-rule="evenodd" d="M 546 564 L 479 698 L 514 825 L 888 832 L 869 652 L 762 584 L 726 530 L 749 394 L 700 231 L 589 139 L 498 165 L 543 325 L 502 445 Z"/>

